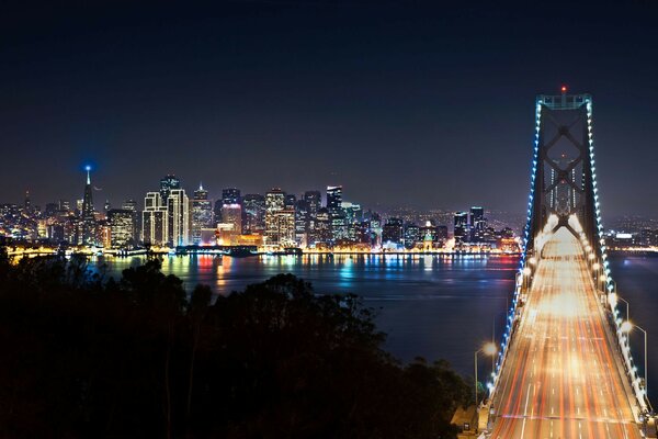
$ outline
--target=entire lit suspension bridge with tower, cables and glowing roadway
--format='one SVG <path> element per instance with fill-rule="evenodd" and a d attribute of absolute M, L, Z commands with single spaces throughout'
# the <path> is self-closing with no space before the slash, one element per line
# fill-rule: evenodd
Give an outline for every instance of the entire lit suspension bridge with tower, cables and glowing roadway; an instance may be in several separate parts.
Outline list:
<path fill-rule="evenodd" d="M 654 437 L 608 262 L 592 105 L 565 88 L 536 99 L 524 251 L 480 437 Z"/>

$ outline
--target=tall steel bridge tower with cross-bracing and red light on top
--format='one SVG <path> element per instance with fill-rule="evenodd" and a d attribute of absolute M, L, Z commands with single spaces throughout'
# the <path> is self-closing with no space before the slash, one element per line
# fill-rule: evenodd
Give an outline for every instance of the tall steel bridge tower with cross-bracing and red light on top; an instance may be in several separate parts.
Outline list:
<path fill-rule="evenodd" d="M 595 177 L 592 97 L 567 94 L 566 87 L 559 95 L 540 94 L 535 102 L 526 254 L 535 250 L 535 238 L 552 214 L 558 217 L 555 228 L 566 226 L 574 234 L 568 219 L 576 215 L 588 241 L 599 244 L 602 227 Z"/>

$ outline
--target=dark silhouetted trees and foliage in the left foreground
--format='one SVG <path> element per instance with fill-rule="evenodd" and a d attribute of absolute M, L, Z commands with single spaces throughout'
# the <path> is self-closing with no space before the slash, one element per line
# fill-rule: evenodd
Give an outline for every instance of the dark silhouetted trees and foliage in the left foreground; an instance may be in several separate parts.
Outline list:
<path fill-rule="evenodd" d="M 158 260 L 104 281 L 0 254 L 0 437 L 454 437 L 463 380 L 383 340 L 356 296 L 292 274 L 213 303 Z"/>

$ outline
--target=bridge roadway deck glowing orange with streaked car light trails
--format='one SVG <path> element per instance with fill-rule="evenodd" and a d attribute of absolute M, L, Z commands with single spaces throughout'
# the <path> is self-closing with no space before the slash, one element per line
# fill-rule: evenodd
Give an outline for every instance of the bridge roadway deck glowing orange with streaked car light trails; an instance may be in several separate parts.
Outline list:
<path fill-rule="evenodd" d="M 546 243 L 494 396 L 495 439 L 640 438 L 580 243 Z"/>

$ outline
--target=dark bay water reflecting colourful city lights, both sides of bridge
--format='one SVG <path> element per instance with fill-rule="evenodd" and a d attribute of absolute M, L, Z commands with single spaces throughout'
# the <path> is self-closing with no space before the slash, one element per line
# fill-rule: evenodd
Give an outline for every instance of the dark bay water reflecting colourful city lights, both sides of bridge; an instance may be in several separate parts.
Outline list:
<path fill-rule="evenodd" d="M 107 273 L 120 275 L 143 257 L 99 258 Z M 277 273 L 293 273 L 318 293 L 351 292 L 377 309 L 377 326 L 388 334 L 386 348 L 410 361 L 446 359 L 457 371 L 473 374 L 473 352 L 500 338 L 504 309 L 519 258 L 509 256 L 304 256 L 215 258 L 167 257 L 162 271 L 180 277 L 186 289 L 208 284 L 217 294 L 240 291 Z M 658 258 L 611 258 L 620 295 L 631 302 L 631 318 L 658 337 Z M 633 352 L 642 369 L 644 338 L 632 334 Z M 480 373 L 490 371 L 480 357 Z M 649 338 L 649 395 L 658 404 L 658 349 Z M 642 374 L 642 370 L 640 370 Z M 651 383 L 655 383 L 654 385 Z M 655 392 L 656 391 L 656 392 Z"/>

